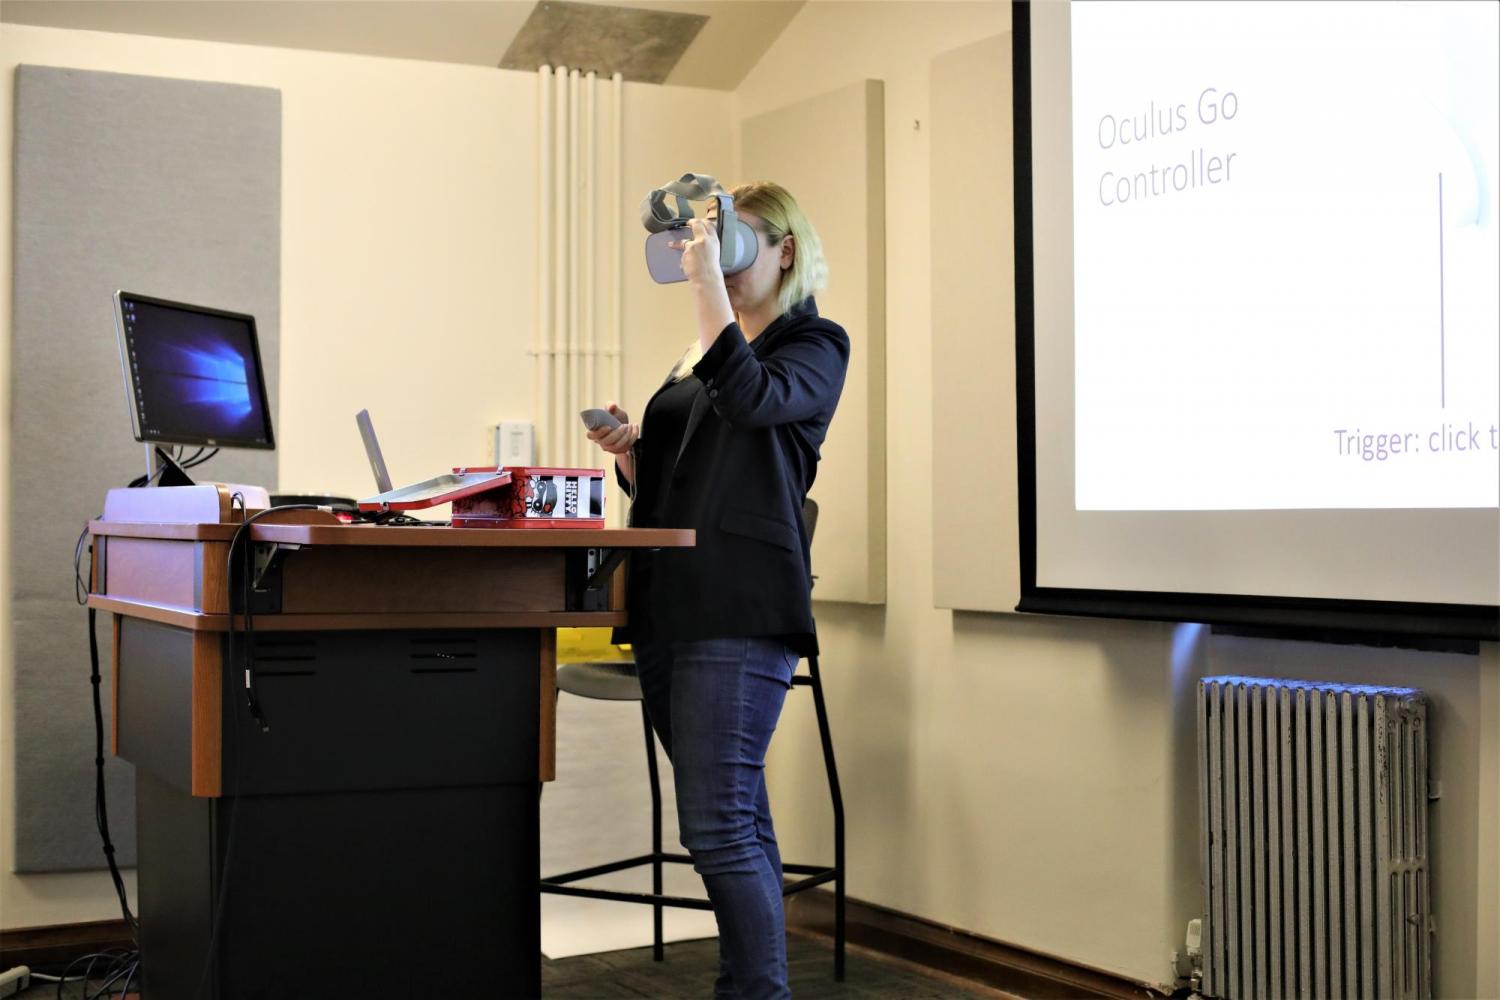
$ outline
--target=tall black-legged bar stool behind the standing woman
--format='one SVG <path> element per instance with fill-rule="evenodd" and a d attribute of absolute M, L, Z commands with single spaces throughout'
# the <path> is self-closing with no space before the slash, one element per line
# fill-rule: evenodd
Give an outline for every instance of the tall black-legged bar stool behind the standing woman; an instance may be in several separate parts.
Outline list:
<path fill-rule="evenodd" d="M 807 534 L 812 537 L 818 526 L 818 504 L 807 501 L 802 508 L 807 519 Z M 816 577 L 813 577 L 816 579 Z M 636 675 L 634 661 L 616 660 L 606 663 L 562 663 L 558 664 L 558 691 L 567 691 L 578 697 L 600 699 L 609 702 L 640 702 L 640 721 L 646 739 L 646 775 L 651 780 L 651 853 L 614 861 L 576 871 L 566 871 L 558 876 L 542 879 L 542 892 L 555 895 L 584 897 L 588 900 L 616 900 L 621 903 L 644 903 L 651 907 L 652 946 L 651 957 L 663 961 L 662 948 L 662 909 L 681 907 L 686 910 L 711 910 L 708 900 L 693 897 L 664 895 L 662 892 L 662 865 L 690 865 L 688 855 L 668 853 L 662 850 L 662 781 L 657 771 L 657 739 L 651 732 L 651 718 L 646 715 L 645 699 L 640 694 L 640 679 Z M 834 883 L 834 979 L 844 979 L 844 829 L 843 829 L 843 795 L 838 790 L 838 768 L 834 763 L 834 744 L 828 733 L 828 706 L 824 702 L 824 682 L 818 672 L 818 657 L 807 657 L 807 673 L 792 678 L 792 687 L 806 687 L 813 691 L 813 708 L 818 712 L 818 736 L 824 745 L 824 769 L 828 774 L 828 798 L 834 810 L 834 864 L 824 865 L 792 865 L 782 864 L 782 871 L 802 876 L 795 882 L 782 886 L 782 895 L 789 897 L 804 889 Z M 608 876 L 615 871 L 651 865 L 651 892 L 620 892 L 614 889 L 591 889 L 573 885 L 585 879 Z"/>

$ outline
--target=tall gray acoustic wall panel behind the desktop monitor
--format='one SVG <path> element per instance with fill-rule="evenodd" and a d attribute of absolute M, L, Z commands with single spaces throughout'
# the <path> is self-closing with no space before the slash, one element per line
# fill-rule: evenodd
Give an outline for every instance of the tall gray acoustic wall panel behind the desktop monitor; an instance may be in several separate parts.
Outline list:
<path fill-rule="evenodd" d="M 280 93 L 20 66 L 14 246 L 16 870 L 99 868 L 87 627 L 69 561 L 105 490 L 144 471 L 111 295 L 254 313 L 274 412 Z M 274 487 L 276 456 L 225 451 L 195 472 Z M 108 616 L 99 639 L 108 718 Z M 106 775 L 111 832 L 132 864 L 130 768 L 111 760 Z"/>

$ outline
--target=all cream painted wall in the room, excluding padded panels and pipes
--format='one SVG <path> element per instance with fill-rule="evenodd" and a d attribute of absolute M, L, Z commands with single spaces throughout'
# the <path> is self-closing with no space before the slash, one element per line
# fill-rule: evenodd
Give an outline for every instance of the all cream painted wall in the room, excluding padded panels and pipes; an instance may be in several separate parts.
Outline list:
<path fill-rule="evenodd" d="M 732 105 L 627 90 L 626 205 L 682 169 L 735 174 L 738 118 L 855 79 L 885 81 L 888 477 L 932 474 L 928 61 L 1006 31 L 1004 3 L 822 3 L 794 19 Z M 350 414 L 376 406 L 398 478 L 483 456 L 484 426 L 530 412 L 531 82 L 495 70 L 48 28 L 0 28 L 0 232 L 10 231 L 15 63 L 282 88 L 282 484 L 360 493 Z M 435 109 L 440 109 L 435 112 Z M 730 112 L 732 109 L 732 112 Z M 682 127 L 682 123 L 692 123 Z M 660 126 L 660 127 L 656 127 Z M 670 127 L 668 127 L 670 126 Z M 402 147 L 405 129 L 424 148 Z M 518 147 L 518 144 L 522 144 Z M 429 183 L 430 181 L 430 183 Z M 510 201 L 502 181 L 518 184 Z M 441 187 L 441 190 L 432 190 Z M 496 219 L 501 210 L 514 217 Z M 387 216 L 399 225 L 382 226 Z M 495 232 L 502 232 L 496 237 Z M 626 406 L 638 412 L 692 337 L 681 289 L 632 268 Z M 10 240 L 0 240 L 0 418 L 9 421 Z M 837 262 L 836 262 L 837 264 Z M 441 289 L 452 298 L 430 295 Z M 390 312 L 366 306 L 372 291 Z M 436 303 L 436 304 L 434 304 Z M 452 343 L 444 349 L 441 343 Z M 345 349 L 372 348 L 351 373 Z M 417 346 L 429 357 L 396 354 Z M 418 352 L 420 354 L 420 352 Z M 350 370 L 345 367 L 344 370 Z M 390 415 L 387 417 L 386 412 Z M 9 424 L 0 435 L 8 483 Z M 0 504 L 0 508 L 4 505 Z M 0 516 L 3 517 L 3 516 Z M 0 601 L 9 601 L 0 525 Z M 1390 679 L 1436 702 L 1434 819 L 1444 996 L 1500 996 L 1500 651 L 1440 657 L 1262 643 L 1196 627 L 933 610 L 932 532 L 888 516 L 884 607 L 820 604 L 846 784 L 850 894 L 1148 982 L 1196 912 L 1191 685 L 1206 672 Z M 9 636 L 8 607 L 0 634 Z M 102 874 L 10 873 L 12 651 L 0 645 L 0 927 L 116 915 Z M 784 853 L 828 858 L 806 694 L 772 748 Z M 134 892 L 134 888 L 132 888 Z"/>

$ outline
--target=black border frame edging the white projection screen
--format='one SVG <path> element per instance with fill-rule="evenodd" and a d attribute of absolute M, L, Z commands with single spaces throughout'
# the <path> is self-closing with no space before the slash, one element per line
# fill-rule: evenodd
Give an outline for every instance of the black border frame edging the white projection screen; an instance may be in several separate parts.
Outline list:
<path fill-rule="evenodd" d="M 1030 3 L 1011 1 L 1016 198 L 1017 612 L 1254 628 L 1288 639 L 1420 645 L 1500 642 L 1500 607 L 1242 594 L 1102 591 L 1036 585 L 1036 345 L 1032 217 Z"/>

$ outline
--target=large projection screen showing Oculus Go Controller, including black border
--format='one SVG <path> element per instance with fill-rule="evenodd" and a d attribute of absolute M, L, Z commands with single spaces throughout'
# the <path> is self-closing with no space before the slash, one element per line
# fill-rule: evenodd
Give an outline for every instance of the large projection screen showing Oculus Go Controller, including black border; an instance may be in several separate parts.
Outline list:
<path fill-rule="evenodd" d="M 1020 610 L 1500 637 L 1497 4 L 1014 4 Z"/>

